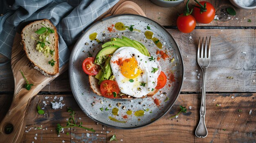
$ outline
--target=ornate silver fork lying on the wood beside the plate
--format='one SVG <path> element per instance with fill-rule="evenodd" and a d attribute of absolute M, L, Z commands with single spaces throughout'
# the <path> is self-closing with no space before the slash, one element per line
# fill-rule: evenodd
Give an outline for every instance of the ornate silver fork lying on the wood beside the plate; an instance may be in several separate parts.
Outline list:
<path fill-rule="evenodd" d="M 207 52 L 207 37 L 204 44 L 204 37 L 202 39 L 202 45 L 201 45 L 201 55 L 200 55 L 200 39 L 198 41 L 198 65 L 200 66 L 202 70 L 202 101 L 201 101 L 201 108 L 200 108 L 200 121 L 198 123 L 198 127 L 195 130 L 195 135 L 200 138 L 205 138 L 208 134 L 207 128 L 204 122 L 205 117 L 205 89 L 206 89 L 206 72 L 207 68 L 210 64 L 210 57 L 211 57 L 211 36 L 209 38 L 209 44 L 208 44 L 208 52 Z M 205 45 L 205 46 L 204 46 Z"/>

